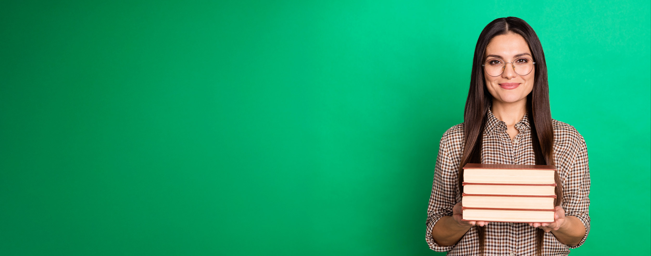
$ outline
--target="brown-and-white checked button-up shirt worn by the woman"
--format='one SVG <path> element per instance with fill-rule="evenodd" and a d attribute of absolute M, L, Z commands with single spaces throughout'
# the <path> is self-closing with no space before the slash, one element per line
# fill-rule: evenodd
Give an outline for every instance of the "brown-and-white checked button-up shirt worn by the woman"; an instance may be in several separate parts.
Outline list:
<path fill-rule="evenodd" d="M 590 231 L 588 207 L 590 199 L 590 172 L 588 151 L 583 136 L 572 125 L 552 120 L 554 129 L 554 159 L 563 185 L 562 207 L 566 216 L 576 216 L 586 228 L 577 246 L 559 242 L 551 233 L 545 233 L 543 255 L 568 255 L 570 248 L 585 242 Z M 498 120 L 488 110 L 484 129 L 482 163 L 484 164 L 535 164 L 527 115 L 516 123 L 519 133 L 513 141 L 506 133 L 506 123 Z M 457 187 L 458 167 L 464 144 L 464 123 L 452 126 L 441 138 L 434 170 L 432 195 L 427 209 L 426 242 L 434 251 L 449 251 L 447 255 L 479 255 L 477 229 L 471 228 L 461 240 L 452 246 L 439 246 L 432 238 L 432 227 L 446 215 L 452 215 L 452 207 L 461 201 Z M 486 226 L 484 255 L 535 255 L 536 229 L 526 223 L 490 222 Z"/>

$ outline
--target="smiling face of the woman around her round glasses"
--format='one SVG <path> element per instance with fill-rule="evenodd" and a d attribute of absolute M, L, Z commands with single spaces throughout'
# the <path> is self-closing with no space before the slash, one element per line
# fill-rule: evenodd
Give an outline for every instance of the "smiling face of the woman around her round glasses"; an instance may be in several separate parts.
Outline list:
<path fill-rule="evenodd" d="M 484 64 L 486 60 L 492 58 L 500 58 L 504 62 L 514 62 L 514 60 L 518 60 L 518 57 L 527 57 L 533 60 L 525 38 L 514 33 L 503 34 L 495 36 L 486 46 Z M 536 68 L 534 67 L 531 73 L 527 75 L 518 75 L 513 70 L 512 65 L 506 63 L 504 72 L 497 77 L 488 75 L 486 68 L 484 68 L 484 81 L 488 92 L 493 96 L 493 102 L 514 103 L 526 101 L 527 95 L 533 90 Z"/>

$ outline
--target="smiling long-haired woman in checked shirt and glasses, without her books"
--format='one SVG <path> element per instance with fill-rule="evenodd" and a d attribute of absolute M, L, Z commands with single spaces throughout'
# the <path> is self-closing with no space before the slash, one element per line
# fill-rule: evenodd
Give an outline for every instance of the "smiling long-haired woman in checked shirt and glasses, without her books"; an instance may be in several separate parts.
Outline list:
<path fill-rule="evenodd" d="M 462 221 L 466 163 L 557 167 L 555 222 Z M 585 140 L 551 118 L 547 66 L 538 36 L 515 17 L 488 23 L 473 58 L 464 123 L 441 138 L 426 221 L 426 241 L 447 255 L 568 255 L 590 231 Z"/>

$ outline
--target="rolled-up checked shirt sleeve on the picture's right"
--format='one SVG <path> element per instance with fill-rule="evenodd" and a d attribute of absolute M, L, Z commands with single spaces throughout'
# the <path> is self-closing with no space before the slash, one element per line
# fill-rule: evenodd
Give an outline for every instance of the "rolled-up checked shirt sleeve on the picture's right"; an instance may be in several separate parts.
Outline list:
<path fill-rule="evenodd" d="M 577 157 L 569 170 L 568 177 L 563 184 L 563 209 L 565 216 L 575 216 L 585 227 L 585 235 L 576 246 L 567 246 L 574 249 L 583 245 L 590 232 L 590 169 L 588 167 L 588 149 L 585 140 L 581 137 Z"/>

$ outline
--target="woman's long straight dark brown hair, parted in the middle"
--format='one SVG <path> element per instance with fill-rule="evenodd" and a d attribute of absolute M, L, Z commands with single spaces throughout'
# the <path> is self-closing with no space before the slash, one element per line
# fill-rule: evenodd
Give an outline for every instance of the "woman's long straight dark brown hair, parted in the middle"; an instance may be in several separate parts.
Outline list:
<path fill-rule="evenodd" d="M 536 164 L 555 166 L 553 157 L 554 131 L 549 110 L 549 86 L 547 84 L 547 64 L 542 51 L 540 40 L 531 26 L 516 17 L 497 18 L 488 23 L 477 40 L 475 57 L 473 57 L 473 71 L 470 79 L 470 89 L 465 101 L 464 110 L 464 151 L 459 165 L 459 191 L 464 192 L 464 165 L 467 163 L 481 163 L 482 136 L 486 126 L 488 108 L 492 104 L 492 96 L 484 84 L 484 70 L 482 63 L 486 54 L 486 46 L 495 36 L 513 32 L 522 36 L 533 54 L 535 64 L 534 85 L 532 92 L 527 96 L 527 115 L 531 126 L 531 140 L 533 141 Z M 554 205 L 562 203 L 562 185 L 558 173 L 555 173 L 556 199 Z M 486 244 L 486 226 L 475 226 L 479 238 L 480 251 L 483 254 Z M 536 252 L 542 255 L 542 245 L 545 231 L 536 230 Z"/>

